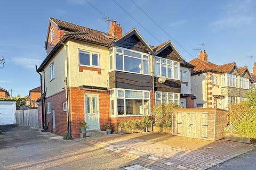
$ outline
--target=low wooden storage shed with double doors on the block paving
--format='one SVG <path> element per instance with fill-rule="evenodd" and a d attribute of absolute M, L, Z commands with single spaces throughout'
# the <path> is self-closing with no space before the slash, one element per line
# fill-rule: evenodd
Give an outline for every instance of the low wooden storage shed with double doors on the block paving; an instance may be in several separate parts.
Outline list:
<path fill-rule="evenodd" d="M 187 108 L 173 110 L 173 135 L 219 140 L 224 138 L 227 111 L 214 108 Z"/>

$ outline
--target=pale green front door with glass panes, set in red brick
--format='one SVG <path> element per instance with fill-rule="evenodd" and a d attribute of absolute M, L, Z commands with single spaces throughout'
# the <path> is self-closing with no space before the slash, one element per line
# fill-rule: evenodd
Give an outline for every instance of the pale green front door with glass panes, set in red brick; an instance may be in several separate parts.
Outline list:
<path fill-rule="evenodd" d="M 99 129 L 98 95 L 85 95 L 85 122 L 87 129 Z"/>

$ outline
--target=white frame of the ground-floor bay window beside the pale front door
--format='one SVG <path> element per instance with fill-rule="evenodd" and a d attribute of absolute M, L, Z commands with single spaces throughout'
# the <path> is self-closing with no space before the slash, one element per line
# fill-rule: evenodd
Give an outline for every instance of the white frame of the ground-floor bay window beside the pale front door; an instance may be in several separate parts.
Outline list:
<path fill-rule="evenodd" d="M 144 111 L 144 100 L 148 100 L 148 116 L 151 115 L 150 113 L 150 91 L 149 90 L 133 90 L 133 89 L 121 89 L 121 88 L 113 88 L 110 89 L 110 91 L 114 91 L 113 95 L 110 95 L 110 116 L 111 117 L 132 117 L 132 116 L 144 116 L 145 114 L 137 114 L 137 115 L 126 115 L 126 99 L 134 99 L 134 100 L 142 100 L 142 111 Z M 118 97 L 118 91 L 123 91 L 124 92 L 124 97 Z M 142 92 L 142 98 L 130 98 L 130 97 L 125 97 L 125 91 L 140 91 Z M 145 98 L 145 93 L 148 92 L 148 98 Z M 124 100 L 124 115 L 118 115 L 117 111 L 118 111 L 118 104 L 117 104 L 117 100 L 118 99 L 123 99 Z M 112 105 L 111 104 L 111 100 L 114 100 L 114 113 L 112 113 L 111 108 Z"/>

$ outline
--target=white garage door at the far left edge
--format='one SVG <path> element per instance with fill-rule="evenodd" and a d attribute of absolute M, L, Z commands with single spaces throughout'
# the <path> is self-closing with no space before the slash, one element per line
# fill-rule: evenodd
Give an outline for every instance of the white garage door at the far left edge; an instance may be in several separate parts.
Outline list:
<path fill-rule="evenodd" d="M 0 125 L 14 124 L 13 104 L 0 104 Z"/>

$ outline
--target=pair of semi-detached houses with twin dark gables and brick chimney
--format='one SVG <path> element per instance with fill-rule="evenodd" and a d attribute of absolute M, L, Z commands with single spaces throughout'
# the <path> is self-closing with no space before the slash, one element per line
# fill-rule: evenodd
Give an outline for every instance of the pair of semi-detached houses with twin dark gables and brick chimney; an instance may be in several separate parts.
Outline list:
<path fill-rule="evenodd" d="M 80 121 L 89 131 L 106 123 L 116 131 L 119 121 L 151 115 L 155 103 L 194 106 L 194 66 L 170 40 L 150 46 L 135 28 L 123 35 L 116 21 L 105 33 L 50 18 L 45 49 L 38 113 L 51 132 L 78 138 Z"/>

